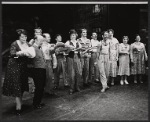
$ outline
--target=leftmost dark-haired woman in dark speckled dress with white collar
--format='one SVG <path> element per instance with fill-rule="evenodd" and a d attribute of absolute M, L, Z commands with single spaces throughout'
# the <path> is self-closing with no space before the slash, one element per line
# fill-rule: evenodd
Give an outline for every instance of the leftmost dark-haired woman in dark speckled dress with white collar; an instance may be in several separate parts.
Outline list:
<path fill-rule="evenodd" d="M 27 34 L 24 29 L 18 29 L 19 39 L 14 41 L 10 47 L 10 58 L 8 61 L 5 79 L 3 84 L 3 94 L 16 98 L 16 114 L 21 112 L 21 98 L 24 91 L 29 90 L 27 76 L 28 58 L 22 56 L 19 51 L 27 49 Z"/>

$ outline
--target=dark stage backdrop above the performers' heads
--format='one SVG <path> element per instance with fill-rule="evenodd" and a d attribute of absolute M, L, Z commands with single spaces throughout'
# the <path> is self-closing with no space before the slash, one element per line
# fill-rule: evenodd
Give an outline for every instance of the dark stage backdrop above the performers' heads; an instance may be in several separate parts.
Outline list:
<path fill-rule="evenodd" d="M 88 38 L 91 32 L 98 33 L 109 28 L 114 29 L 114 36 L 122 42 L 122 36 L 129 36 L 129 43 L 135 41 L 139 33 L 142 42 L 148 42 L 148 5 L 147 4 L 110 4 L 98 5 L 100 12 L 94 13 L 94 4 L 3 4 L 2 5 L 2 52 L 16 40 L 16 29 L 28 32 L 28 41 L 34 36 L 34 28 L 41 27 L 43 32 L 52 36 L 62 34 L 63 42 L 69 39 L 69 30 L 75 28 L 80 37 L 80 29 L 87 28 Z M 7 52 L 7 51 L 6 51 Z M 7 57 L 7 53 L 3 53 Z"/>

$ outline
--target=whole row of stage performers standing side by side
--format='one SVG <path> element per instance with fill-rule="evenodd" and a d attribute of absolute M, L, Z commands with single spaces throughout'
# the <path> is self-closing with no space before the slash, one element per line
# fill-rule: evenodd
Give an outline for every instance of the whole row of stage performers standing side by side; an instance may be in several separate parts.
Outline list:
<path fill-rule="evenodd" d="M 129 84 L 127 76 L 134 75 L 134 83 L 143 83 L 145 61 L 148 56 L 140 35 L 128 44 L 129 37 L 123 36 L 122 43 L 114 37 L 114 30 L 102 33 L 102 40 L 93 32 L 87 38 L 87 30 L 81 29 L 81 37 L 75 29 L 69 32 L 65 43 L 62 35 L 55 36 L 56 44 L 50 43 L 51 35 L 35 29 L 34 38 L 27 42 L 27 32 L 17 30 L 18 39 L 10 46 L 10 56 L 5 72 L 3 94 L 16 99 L 16 114 L 20 115 L 22 96 L 29 91 L 28 77 L 34 81 L 33 108 L 40 109 L 43 93 L 52 94 L 59 87 L 60 76 L 69 94 L 80 91 L 80 84 L 88 87 L 92 82 L 101 82 L 101 92 L 105 92 L 115 77 L 121 76 L 120 84 Z M 119 67 L 117 62 L 119 62 Z"/>

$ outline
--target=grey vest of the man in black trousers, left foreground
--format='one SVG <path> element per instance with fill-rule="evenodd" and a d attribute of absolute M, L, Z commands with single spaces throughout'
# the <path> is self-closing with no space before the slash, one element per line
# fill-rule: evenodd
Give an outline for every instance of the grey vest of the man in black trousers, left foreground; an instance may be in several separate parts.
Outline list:
<path fill-rule="evenodd" d="M 36 47 L 34 45 L 33 45 L 33 47 L 34 47 L 35 53 L 36 53 L 36 56 L 33 58 L 33 67 L 45 69 L 46 68 L 46 62 L 45 62 L 42 50 L 40 50 L 38 47 Z"/>

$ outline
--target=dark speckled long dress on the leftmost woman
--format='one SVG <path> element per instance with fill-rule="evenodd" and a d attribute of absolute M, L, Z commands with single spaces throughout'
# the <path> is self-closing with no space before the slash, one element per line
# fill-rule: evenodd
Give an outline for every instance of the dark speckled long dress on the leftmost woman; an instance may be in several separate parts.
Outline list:
<path fill-rule="evenodd" d="M 10 59 L 7 64 L 3 83 L 5 96 L 21 97 L 24 91 L 29 91 L 27 74 L 27 57 L 16 57 L 16 52 L 21 51 L 17 41 L 10 47 Z"/>

